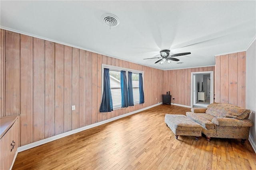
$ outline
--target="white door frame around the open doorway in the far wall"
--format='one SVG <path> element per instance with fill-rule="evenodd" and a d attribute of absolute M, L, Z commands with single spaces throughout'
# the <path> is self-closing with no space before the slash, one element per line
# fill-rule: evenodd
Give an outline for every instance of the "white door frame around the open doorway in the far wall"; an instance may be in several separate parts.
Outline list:
<path fill-rule="evenodd" d="M 191 98 L 190 98 L 190 105 L 191 108 L 194 105 L 194 95 L 196 94 L 196 92 L 194 92 L 194 75 L 195 74 L 210 74 L 210 104 L 213 103 L 213 71 L 202 71 L 202 72 L 191 72 Z"/>

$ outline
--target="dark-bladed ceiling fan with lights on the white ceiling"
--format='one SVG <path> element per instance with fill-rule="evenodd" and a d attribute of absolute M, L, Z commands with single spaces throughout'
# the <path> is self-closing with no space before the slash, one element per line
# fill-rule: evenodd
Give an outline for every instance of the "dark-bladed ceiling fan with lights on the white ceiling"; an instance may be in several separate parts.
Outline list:
<path fill-rule="evenodd" d="M 148 58 L 148 59 L 160 59 L 160 60 L 156 61 L 156 63 L 160 62 L 160 64 L 164 64 L 164 63 L 167 62 L 168 64 L 170 64 L 171 60 L 172 61 L 180 61 L 179 59 L 176 59 L 176 58 L 173 58 L 173 57 L 181 56 L 181 55 L 188 55 L 188 54 L 191 54 L 191 53 L 190 52 L 188 52 L 188 53 L 177 53 L 177 54 L 170 55 L 170 50 L 166 49 L 166 50 L 161 50 L 160 51 L 160 55 L 161 55 L 162 59 L 161 59 L 161 57 L 153 57 L 153 58 Z M 146 60 L 146 59 L 144 59 L 144 60 Z"/>

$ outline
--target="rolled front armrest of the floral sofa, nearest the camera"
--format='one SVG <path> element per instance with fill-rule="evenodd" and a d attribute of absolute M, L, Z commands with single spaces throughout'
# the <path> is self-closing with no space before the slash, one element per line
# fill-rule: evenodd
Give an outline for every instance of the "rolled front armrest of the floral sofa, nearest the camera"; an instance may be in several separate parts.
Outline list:
<path fill-rule="evenodd" d="M 212 123 L 218 126 L 251 127 L 253 122 L 250 119 L 235 119 L 228 117 L 214 117 Z"/>

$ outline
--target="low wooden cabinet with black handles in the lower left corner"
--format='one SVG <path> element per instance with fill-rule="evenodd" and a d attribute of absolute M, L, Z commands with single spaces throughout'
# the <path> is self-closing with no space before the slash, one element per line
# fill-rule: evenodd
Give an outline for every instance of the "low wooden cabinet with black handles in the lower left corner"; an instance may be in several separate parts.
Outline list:
<path fill-rule="evenodd" d="M 12 161 L 19 146 L 18 115 L 0 118 L 0 169 L 7 170 L 12 166 Z"/>

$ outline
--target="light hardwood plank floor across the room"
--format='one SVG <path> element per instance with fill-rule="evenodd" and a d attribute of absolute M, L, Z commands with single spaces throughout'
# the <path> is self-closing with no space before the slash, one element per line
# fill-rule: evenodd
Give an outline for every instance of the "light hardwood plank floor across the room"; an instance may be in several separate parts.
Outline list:
<path fill-rule="evenodd" d="M 249 141 L 179 136 L 164 115 L 189 108 L 160 105 L 18 153 L 13 169 L 256 169 Z"/>

